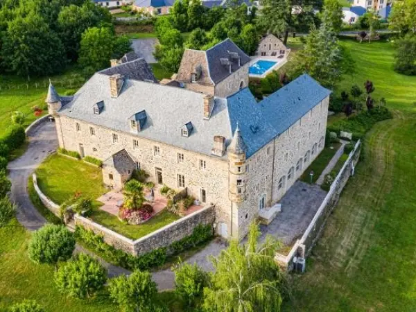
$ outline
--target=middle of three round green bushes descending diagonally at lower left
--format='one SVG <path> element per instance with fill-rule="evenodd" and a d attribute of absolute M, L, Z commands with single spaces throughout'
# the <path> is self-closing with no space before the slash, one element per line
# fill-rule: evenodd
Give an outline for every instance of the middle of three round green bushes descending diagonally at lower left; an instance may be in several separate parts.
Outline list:
<path fill-rule="evenodd" d="M 107 270 L 88 254 L 77 254 L 55 272 L 55 283 L 62 293 L 71 297 L 91 297 L 103 288 L 107 281 Z"/>

